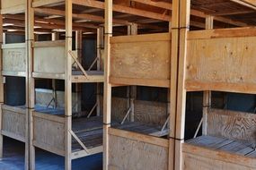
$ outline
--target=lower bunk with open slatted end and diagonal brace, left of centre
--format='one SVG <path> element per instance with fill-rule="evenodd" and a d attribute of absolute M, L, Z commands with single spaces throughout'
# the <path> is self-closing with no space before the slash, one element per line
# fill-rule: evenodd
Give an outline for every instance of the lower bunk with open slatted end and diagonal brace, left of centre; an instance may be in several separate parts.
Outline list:
<path fill-rule="evenodd" d="M 36 107 L 33 112 L 33 146 L 65 157 L 64 110 Z M 102 152 L 102 116 L 72 118 L 72 159 Z"/>

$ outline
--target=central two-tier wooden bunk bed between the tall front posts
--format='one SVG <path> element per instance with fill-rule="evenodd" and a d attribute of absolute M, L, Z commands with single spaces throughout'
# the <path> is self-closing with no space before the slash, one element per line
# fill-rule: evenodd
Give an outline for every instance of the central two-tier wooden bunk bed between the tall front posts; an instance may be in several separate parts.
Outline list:
<path fill-rule="evenodd" d="M 111 37 L 110 85 L 170 88 L 170 55 L 171 33 Z M 140 101 L 133 95 L 129 101 L 128 107 L 124 102 L 125 107 L 117 111 L 116 98 L 111 98 L 112 120 L 105 137 L 109 139 L 106 166 L 109 169 L 168 169 L 172 165 L 169 151 L 173 149 L 168 139 L 169 104 Z M 119 122 L 116 115 L 122 115 Z M 153 120 L 157 123 L 152 123 Z"/>

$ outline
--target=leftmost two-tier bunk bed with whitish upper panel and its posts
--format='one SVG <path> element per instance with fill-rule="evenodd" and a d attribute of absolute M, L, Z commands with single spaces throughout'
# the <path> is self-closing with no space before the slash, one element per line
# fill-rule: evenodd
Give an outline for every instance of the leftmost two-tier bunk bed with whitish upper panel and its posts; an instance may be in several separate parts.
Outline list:
<path fill-rule="evenodd" d="M 25 143 L 25 166 L 28 166 L 28 110 L 27 105 L 23 106 L 10 106 L 6 104 L 6 98 L 4 98 L 4 80 L 5 76 L 22 77 L 25 79 L 27 58 L 26 58 L 26 43 L 11 43 L 5 44 L 4 39 L 4 17 L 3 15 L 12 14 L 23 14 L 25 13 L 26 2 L 21 1 L 7 1 L 1 0 L 1 27 L 0 27 L 0 46 L 1 46 L 1 74 L 0 74 L 0 157 L 3 157 L 3 136 L 12 138 L 14 140 L 20 140 Z M 21 17 L 22 20 L 22 17 Z M 25 90 L 25 89 L 23 89 Z M 24 102 L 25 103 L 25 102 Z"/>

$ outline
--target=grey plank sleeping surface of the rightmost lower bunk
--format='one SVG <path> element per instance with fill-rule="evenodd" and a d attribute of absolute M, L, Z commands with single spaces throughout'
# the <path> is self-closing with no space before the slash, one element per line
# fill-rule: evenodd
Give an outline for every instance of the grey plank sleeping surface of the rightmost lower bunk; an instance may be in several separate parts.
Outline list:
<path fill-rule="evenodd" d="M 187 140 L 186 143 L 208 149 L 219 149 L 246 157 L 256 157 L 255 143 L 251 142 L 228 140 L 213 136 L 200 136 Z"/>

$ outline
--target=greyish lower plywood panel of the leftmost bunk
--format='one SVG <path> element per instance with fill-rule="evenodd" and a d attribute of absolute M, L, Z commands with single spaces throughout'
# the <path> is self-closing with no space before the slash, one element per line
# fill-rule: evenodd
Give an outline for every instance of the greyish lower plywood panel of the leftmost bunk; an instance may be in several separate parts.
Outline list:
<path fill-rule="evenodd" d="M 2 106 L 2 114 L 2 134 L 24 142 L 26 132 L 26 109 L 15 106 Z"/>

